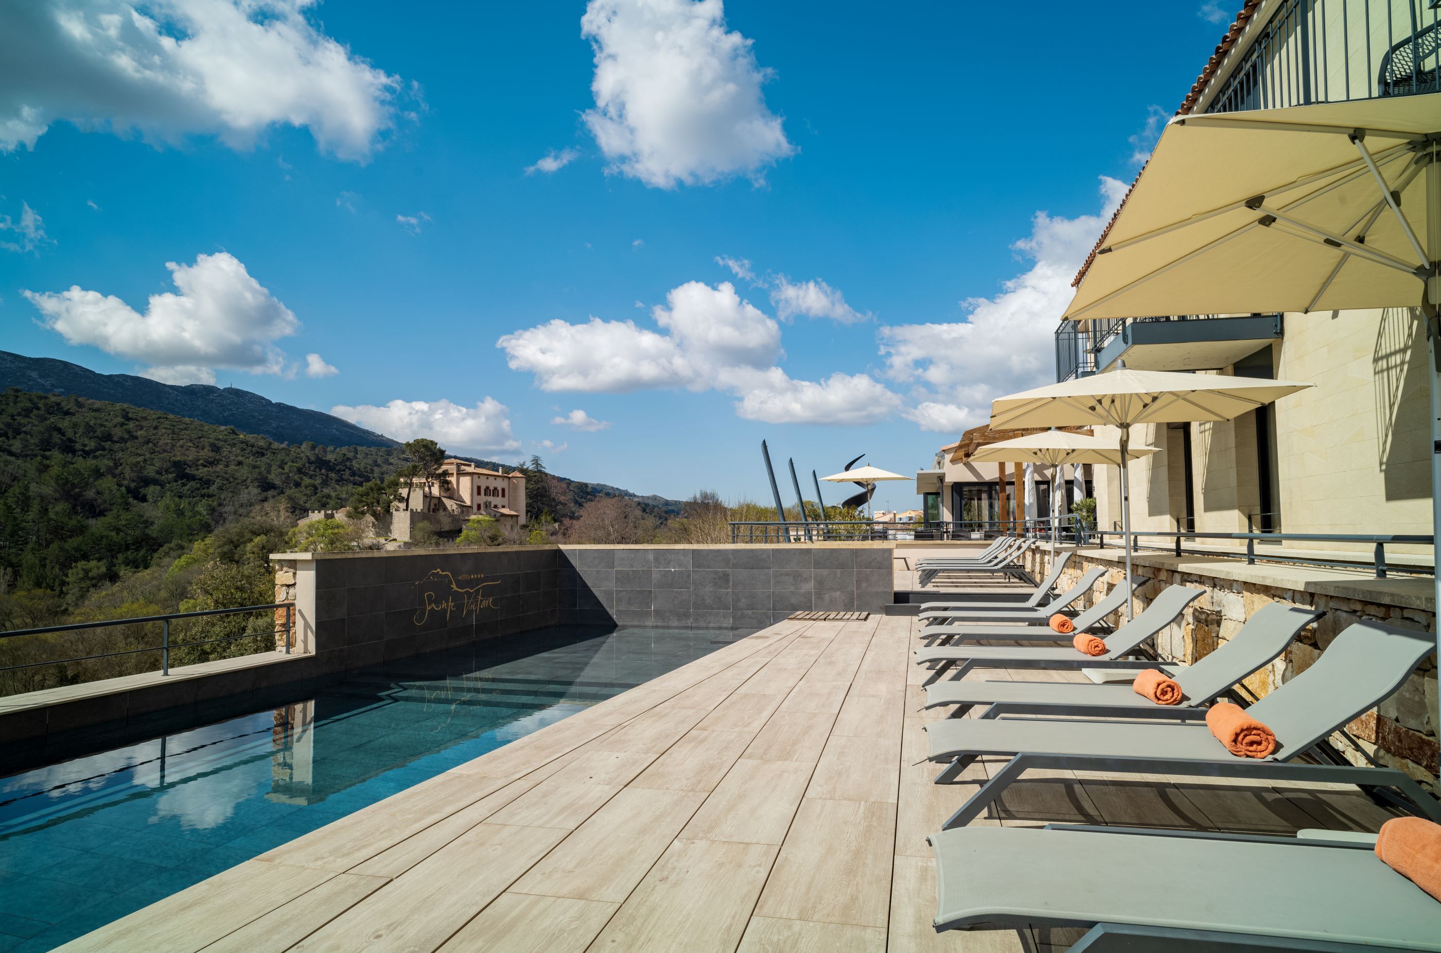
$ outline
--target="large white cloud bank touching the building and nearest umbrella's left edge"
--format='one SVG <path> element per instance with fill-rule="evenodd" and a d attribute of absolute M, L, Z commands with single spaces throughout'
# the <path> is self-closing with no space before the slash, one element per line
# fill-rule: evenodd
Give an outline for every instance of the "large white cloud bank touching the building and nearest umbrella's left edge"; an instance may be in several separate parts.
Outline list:
<path fill-rule="evenodd" d="M 904 415 L 922 430 L 955 433 L 990 418 L 990 402 L 1055 378 L 1055 330 L 1075 277 L 1097 235 L 1125 195 L 1101 177 L 1102 208 L 1074 219 L 1038 212 L 1029 238 L 1013 248 L 1033 260 L 993 298 L 967 298 L 964 322 L 880 329 L 888 376 L 912 388 Z"/>

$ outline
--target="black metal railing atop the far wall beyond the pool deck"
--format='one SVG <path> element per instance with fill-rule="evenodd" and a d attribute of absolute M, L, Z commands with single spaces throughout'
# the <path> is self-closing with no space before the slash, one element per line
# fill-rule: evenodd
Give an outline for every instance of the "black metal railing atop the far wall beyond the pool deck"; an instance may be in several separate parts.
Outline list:
<path fill-rule="evenodd" d="M 1050 525 L 1056 523 L 1059 539 L 1078 539 L 1075 516 L 1038 519 L 961 519 L 931 520 L 915 523 L 880 523 L 870 520 L 800 520 L 735 522 L 731 523 L 731 542 L 777 544 L 777 542 L 885 542 L 892 539 L 922 539 L 935 542 L 981 541 L 996 536 L 1025 536 L 1050 539 Z"/>

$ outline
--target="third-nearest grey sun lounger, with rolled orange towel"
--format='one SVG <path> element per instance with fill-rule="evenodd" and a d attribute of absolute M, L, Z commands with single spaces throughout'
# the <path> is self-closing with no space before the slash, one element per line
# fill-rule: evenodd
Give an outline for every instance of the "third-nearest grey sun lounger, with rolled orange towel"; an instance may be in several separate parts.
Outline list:
<path fill-rule="evenodd" d="M 987 705 L 980 718 L 1000 715 L 1082 715 L 1087 718 L 1206 717 L 1210 702 L 1257 669 L 1270 665 L 1324 611 L 1271 603 L 1258 608 L 1228 643 L 1196 665 L 1156 662 L 1180 685 L 1182 704 L 1159 705 L 1127 683 L 1094 682 L 940 682 L 925 689 L 925 708 L 954 706 L 951 718 Z"/>

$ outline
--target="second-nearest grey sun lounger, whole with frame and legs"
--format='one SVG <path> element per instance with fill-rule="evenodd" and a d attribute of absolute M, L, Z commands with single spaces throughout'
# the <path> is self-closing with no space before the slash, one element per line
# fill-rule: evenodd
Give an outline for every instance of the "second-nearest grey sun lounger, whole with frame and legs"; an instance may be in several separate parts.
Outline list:
<path fill-rule="evenodd" d="M 1294 758 L 1356 715 L 1389 698 L 1421 659 L 1432 636 L 1363 621 L 1347 626 L 1311 668 L 1251 705 L 1251 717 L 1275 732 L 1268 758 L 1231 754 L 1205 724 L 1068 721 L 1059 718 L 947 718 L 927 725 L 928 758 L 948 763 L 938 783 L 953 783 L 977 757 L 1013 755 L 991 774 L 945 829 L 965 826 L 1030 768 L 1244 777 L 1391 787 L 1418 812 L 1441 822 L 1441 802 L 1406 774 L 1382 767 L 1297 764 Z"/>

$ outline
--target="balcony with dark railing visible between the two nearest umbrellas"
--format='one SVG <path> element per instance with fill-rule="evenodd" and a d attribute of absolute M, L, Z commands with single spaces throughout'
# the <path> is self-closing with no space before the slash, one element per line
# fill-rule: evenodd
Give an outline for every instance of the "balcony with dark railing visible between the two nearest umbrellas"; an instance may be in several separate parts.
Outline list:
<path fill-rule="evenodd" d="M 1062 322 L 1056 329 L 1056 381 L 1112 369 L 1225 368 L 1281 337 L 1280 314 L 1170 314 L 1107 322 Z"/>

